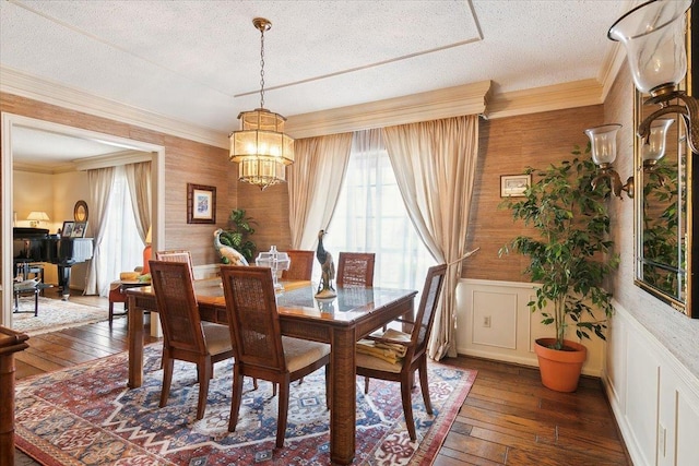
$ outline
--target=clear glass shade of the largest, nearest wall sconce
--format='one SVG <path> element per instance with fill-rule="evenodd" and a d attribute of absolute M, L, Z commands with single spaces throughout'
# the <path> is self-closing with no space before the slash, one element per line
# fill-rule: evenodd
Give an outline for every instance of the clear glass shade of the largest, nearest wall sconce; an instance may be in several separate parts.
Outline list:
<path fill-rule="evenodd" d="M 685 12 L 692 0 L 645 2 L 618 19 L 607 37 L 626 48 L 636 87 L 647 94 L 676 86 L 687 73 Z"/>

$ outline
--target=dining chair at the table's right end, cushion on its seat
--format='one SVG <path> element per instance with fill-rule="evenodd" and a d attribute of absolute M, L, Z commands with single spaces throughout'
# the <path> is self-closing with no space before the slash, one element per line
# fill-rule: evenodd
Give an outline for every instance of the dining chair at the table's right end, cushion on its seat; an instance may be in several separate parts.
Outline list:
<path fill-rule="evenodd" d="M 369 391 L 369 378 L 401 383 L 401 398 L 405 426 L 412 441 L 415 441 L 415 420 L 413 419 L 414 374 L 419 370 L 419 385 L 423 392 L 425 409 L 433 414 L 427 383 L 427 340 L 435 322 L 435 310 L 447 273 L 447 264 L 435 265 L 427 271 L 417 314 L 412 322 L 411 333 L 388 328 L 381 335 L 371 334 L 357 343 L 357 375 L 364 375 L 364 392 Z"/>

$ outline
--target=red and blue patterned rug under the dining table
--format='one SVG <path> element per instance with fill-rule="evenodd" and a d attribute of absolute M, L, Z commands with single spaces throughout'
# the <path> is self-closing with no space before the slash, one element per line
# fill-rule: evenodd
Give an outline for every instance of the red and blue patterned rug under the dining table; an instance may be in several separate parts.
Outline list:
<path fill-rule="evenodd" d="M 158 408 L 159 344 L 144 353 L 143 386 L 128 390 L 128 356 L 22 380 L 16 386 L 17 447 L 59 465 L 328 465 L 330 415 L 322 370 L 291 387 L 286 441 L 274 449 L 277 396 L 270 383 L 246 378 L 239 422 L 228 432 L 232 362 L 220 362 L 209 403 L 197 421 L 193 365 L 176 361 L 167 406 Z M 356 465 L 430 465 L 476 378 L 475 371 L 429 365 L 434 415 L 413 392 L 417 441 L 405 430 L 400 384 L 357 378 Z"/>

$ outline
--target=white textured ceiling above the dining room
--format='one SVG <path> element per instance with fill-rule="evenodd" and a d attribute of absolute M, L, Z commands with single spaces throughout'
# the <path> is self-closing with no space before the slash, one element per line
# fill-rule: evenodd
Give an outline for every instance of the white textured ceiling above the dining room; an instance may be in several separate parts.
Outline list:
<path fill-rule="evenodd" d="M 0 2 L 0 65 L 220 132 L 260 105 L 300 115 L 493 81 L 599 79 L 611 0 Z M 1 81 L 1 74 L 0 74 Z"/>

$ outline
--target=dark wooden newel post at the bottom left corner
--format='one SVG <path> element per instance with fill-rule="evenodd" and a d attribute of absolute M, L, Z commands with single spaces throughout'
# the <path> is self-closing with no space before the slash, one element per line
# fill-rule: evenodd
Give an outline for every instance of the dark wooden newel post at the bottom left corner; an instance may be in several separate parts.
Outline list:
<path fill-rule="evenodd" d="M 28 335 L 0 326 L 0 458 L 14 464 L 14 354 L 28 348 Z"/>

